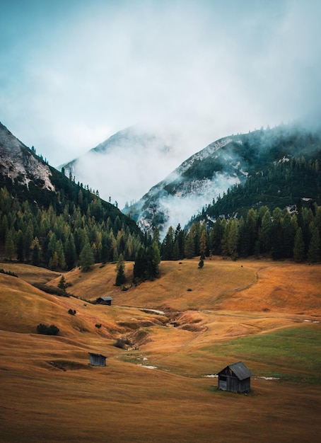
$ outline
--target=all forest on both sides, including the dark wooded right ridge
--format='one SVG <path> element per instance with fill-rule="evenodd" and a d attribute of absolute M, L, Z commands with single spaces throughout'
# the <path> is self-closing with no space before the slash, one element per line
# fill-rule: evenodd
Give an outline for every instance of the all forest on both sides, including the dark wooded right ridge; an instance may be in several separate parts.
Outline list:
<path fill-rule="evenodd" d="M 321 259 L 320 161 L 284 157 L 218 197 L 188 226 L 143 233 L 117 205 L 54 168 L 56 192 L 33 179 L 28 188 L 1 176 L 0 247 L 6 260 L 51 270 L 89 270 L 94 263 L 134 262 L 136 280 L 158 277 L 161 260 L 222 255 L 233 259 Z M 38 180 L 39 181 L 39 180 Z M 305 197 L 303 197 L 303 192 Z"/>

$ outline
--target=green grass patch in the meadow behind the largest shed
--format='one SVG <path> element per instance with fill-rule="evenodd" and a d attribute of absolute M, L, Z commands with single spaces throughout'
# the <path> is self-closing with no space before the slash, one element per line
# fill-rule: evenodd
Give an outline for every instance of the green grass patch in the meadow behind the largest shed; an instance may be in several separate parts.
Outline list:
<path fill-rule="evenodd" d="M 321 329 L 319 325 L 285 328 L 275 333 L 216 343 L 202 351 L 265 364 L 257 376 L 276 376 L 295 382 L 321 384 Z"/>

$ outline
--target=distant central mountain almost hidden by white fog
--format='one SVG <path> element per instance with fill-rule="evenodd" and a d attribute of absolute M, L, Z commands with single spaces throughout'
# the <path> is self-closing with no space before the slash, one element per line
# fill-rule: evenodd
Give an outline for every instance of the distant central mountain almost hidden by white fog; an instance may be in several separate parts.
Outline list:
<path fill-rule="evenodd" d="M 117 200 L 122 208 L 141 198 L 177 164 L 173 134 L 128 127 L 59 168 L 77 182 L 98 189 L 105 200 Z"/>

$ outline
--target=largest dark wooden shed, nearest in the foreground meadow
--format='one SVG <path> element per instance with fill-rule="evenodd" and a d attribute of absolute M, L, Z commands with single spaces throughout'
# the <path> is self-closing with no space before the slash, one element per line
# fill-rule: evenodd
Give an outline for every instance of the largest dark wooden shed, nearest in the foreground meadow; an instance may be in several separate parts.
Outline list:
<path fill-rule="evenodd" d="M 252 372 L 243 362 L 229 364 L 218 372 L 218 389 L 230 392 L 247 392 L 251 389 Z"/>

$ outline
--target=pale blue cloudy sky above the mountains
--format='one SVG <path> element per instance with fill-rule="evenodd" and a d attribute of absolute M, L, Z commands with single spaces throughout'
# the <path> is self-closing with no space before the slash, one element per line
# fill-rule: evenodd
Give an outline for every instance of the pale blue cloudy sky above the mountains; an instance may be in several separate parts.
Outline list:
<path fill-rule="evenodd" d="M 320 0 L 0 6 L 0 121 L 52 166 L 132 125 L 175 133 L 179 166 L 220 137 L 320 115 Z"/>

